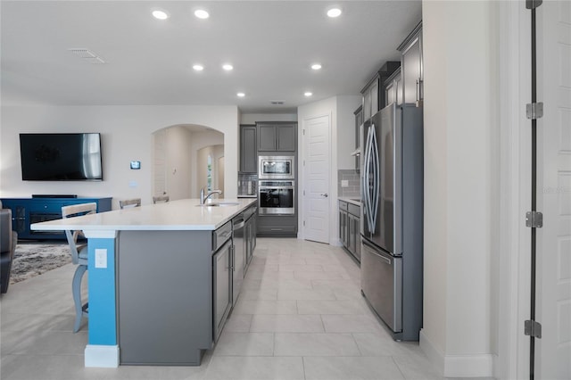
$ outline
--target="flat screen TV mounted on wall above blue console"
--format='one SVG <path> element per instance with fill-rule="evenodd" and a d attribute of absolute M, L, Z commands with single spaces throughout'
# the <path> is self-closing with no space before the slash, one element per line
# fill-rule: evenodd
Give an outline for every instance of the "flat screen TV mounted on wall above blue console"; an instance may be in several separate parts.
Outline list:
<path fill-rule="evenodd" d="M 98 133 L 21 133 L 20 153 L 26 181 L 103 180 Z"/>

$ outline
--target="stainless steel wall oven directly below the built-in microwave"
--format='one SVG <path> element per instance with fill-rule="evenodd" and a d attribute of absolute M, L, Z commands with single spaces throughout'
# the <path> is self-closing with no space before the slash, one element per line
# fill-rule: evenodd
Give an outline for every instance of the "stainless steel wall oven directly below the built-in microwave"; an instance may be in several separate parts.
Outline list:
<path fill-rule="evenodd" d="M 260 215 L 292 215 L 295 213 L 295 181 L 267 180 L 258 183 Z"/>

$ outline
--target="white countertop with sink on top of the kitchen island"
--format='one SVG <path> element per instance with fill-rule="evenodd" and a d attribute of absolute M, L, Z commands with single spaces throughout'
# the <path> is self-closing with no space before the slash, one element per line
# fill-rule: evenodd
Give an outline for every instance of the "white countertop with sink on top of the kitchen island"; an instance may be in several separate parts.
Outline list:
<path fill-rule="evenodd" d="M 210 200 L 209 200 L 210 201 Z M 237 205 L 205 207 L 198 199 L 181 199 L 166 203 L 147 204 L 130 209 L 100 212 L 83 217 L 34 223 L 32 230 L 214 230 L 244 211 L 252 198 L 216 199 L 213 203 L 236 202 Z"/>

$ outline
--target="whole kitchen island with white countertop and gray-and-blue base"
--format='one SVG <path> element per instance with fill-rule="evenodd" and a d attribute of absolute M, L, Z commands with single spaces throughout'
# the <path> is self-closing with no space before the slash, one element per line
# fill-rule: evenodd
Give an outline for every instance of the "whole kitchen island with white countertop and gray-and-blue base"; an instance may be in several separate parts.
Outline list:
<path fill-rule="evenodd" d="M 33 224 L 88 239 L 86 367 L 200 365 L 232 305 L 232 220 L 255 202 L 186 199 Z"/>

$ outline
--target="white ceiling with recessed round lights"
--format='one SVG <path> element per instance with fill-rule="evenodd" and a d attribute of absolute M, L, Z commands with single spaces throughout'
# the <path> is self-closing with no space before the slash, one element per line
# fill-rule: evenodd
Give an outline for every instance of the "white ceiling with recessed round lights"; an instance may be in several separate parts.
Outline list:
<path fill-rule="evenodd" d="M 327 17 L 332 5 L 341 6 L 340 17 Z M 237 105 L 244 113 L 295 112 L 304 103 L 359 94 L 385 61 L 399 59 L 396 47 L 422 16 L 420 1 L 402 0 L 0 6 L 4 104 Z M 199 7 L 210 18 L 195 18 Z M 170 18 L 154 19 L 156 9 Z M 105 63 L 85 62 L 70 48 L 87 48 Z M 196 62 L 203 71 L 192 69 Z M 234 70 L 222 70 L 225 62 Z M 322 69 L 311 70 L 313 62 Z"/>

